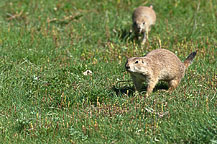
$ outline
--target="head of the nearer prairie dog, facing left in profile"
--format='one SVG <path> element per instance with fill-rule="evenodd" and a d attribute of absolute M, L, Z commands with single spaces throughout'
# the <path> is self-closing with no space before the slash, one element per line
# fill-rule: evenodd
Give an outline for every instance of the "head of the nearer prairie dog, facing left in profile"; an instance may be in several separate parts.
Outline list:
<path fill-rule="evenodd" d="M 130 73 L 148 74 L 148 63 L 144 57 L 129 58 L 125 64 L 125 68 Z"/>

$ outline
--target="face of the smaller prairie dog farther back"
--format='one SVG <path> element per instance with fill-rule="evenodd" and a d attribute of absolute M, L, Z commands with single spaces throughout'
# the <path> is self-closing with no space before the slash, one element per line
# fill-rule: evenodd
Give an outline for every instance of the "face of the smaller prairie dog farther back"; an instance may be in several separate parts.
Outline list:
<path fill-rule="evenodd" d="M 149 27 L 148 20 L 146 18 L 137 19 L 136 21 L 133 22 L 133 25 L 134 28 L 136 28 L 139 33 L 145 32 Z"/>

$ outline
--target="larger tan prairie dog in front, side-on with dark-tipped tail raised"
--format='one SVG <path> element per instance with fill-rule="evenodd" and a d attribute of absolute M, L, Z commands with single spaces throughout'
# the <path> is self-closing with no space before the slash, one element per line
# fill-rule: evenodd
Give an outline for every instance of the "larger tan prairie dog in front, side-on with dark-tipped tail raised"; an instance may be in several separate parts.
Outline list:
<path fill-rule="evenodd" d="M 136 90 L 140 91 L 142 83 L 148 82 L 146 96 L 153 91 L 159 80 L 168 82 L 169 91 L 172 91 L 179 85 L 196 53 L 192 52 L 182 63 L 171 51 L 156 49 L 144 57 L 129 58 L 125 68 L 130 73 Z"/>

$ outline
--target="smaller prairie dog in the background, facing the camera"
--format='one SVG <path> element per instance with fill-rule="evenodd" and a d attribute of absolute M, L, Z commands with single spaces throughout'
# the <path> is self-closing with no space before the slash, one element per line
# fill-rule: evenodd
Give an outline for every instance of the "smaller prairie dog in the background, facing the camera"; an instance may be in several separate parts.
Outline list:
<path fill-rule="evenodd" d="M 153 6 L 150 7 L 140 6 L 133 12 L 133 30 L 138 38 L 139 34 L 143 34 L 141 44 L 145 44 L 148 39 L 148 32 L 151 30 L 151 26 L 155 24 L 156 14 L 153 10 Z"/>

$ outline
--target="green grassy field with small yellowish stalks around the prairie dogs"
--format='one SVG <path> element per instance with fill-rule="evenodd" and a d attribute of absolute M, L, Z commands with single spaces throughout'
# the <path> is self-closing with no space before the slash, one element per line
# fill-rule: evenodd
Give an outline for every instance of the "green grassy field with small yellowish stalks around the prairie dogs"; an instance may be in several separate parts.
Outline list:
<path fill-rule="evenodd" d="M 141 46 L 131 14 L 150 4 Z M 160 47 L 198 54 L 144 98 L 124 64 Z M 215 0 L 1 0 L 0 143 L 217 143 L 216 57 Z"/>

